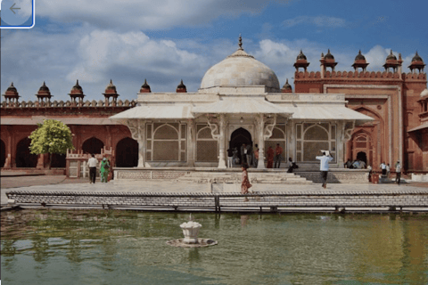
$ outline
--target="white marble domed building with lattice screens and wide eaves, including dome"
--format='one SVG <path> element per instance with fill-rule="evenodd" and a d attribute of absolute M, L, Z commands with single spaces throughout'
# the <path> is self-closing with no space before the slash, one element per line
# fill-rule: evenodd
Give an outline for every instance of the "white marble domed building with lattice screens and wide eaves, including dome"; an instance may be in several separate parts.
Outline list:
<path fill-rule="evenodd" d="M 258 168 L 276 143 L 300 167 L 316 168 L 319 150 L 343 167 L 353 127 L 372 120 L 346 108 L 344 94 L 281 93 L 275 72 L 242 48 L 210 68 L 197 93 L 144 93 L 137 101 L 111 119 L 138 142 L 138 167 L 226 168 L 226 150 L 241 142 L 258 144 Z"/>

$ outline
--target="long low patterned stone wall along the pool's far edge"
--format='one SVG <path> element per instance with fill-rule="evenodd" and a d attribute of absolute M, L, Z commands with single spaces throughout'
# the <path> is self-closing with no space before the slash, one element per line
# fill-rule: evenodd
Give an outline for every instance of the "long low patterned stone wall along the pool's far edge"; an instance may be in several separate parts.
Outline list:
<path fill-rule="evenodd" d="M 428 191 L 287 191 L 239 193 L 127 193 L 7 191 L 13 205 L 136 208 L 428 208 Z M 248 199 L 248 200 L 247 200 Z"/>

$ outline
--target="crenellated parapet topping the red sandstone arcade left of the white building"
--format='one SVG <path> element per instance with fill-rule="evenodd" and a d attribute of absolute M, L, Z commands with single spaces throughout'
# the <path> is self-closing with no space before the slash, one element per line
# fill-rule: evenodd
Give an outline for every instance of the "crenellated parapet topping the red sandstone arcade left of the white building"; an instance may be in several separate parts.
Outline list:
<path fill-rule="evenodd" d="M 78 107 L 78 108 L 94 108 L 94 107 L 135 107 L 136 101 L 129 101 L 125 100 L 125 102 L 122 102 L 119 100 L 118 102 L 106 102 L 103 100 L 100 100 L 96 102 L 93 100 L 92 102 L 86 101 L 86 102 L 70 102 L 70 101 L 53 101 L 53 102 L 32 102 L 32 101 L 22 101 L 22 102 L 2 102 L 0 107 L 1 108 L 72 108 L 72 107 Z"/>

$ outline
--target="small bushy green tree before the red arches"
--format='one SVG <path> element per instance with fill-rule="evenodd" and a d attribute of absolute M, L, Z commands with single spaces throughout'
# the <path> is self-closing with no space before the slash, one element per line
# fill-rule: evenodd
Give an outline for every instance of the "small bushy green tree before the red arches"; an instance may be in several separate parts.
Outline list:
<path fill-rule="evenodd" d="M 61 121 L 45 119 L 37 124 L 37 129 L 29 135 L 29 151 L 34 154 L 49 153 L 49 169 L 52 154 L 65 154 L 67 149 L 74 150 L 70 128 Z"/>

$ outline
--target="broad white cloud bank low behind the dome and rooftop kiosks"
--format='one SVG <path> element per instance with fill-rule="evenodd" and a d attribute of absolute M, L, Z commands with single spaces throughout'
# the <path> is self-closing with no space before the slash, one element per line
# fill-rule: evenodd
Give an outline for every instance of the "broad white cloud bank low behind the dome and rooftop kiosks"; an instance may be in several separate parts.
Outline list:
<path fill-rule="evenodd" d="M 49 34 L 37 29 L 2 33 L 2 85 L 4 93 L 13 81 L 21 100 L 34 101 L 34 94 L 46 81 L 53 100 L 69 100 L 71 87 L 79 79 L 87 100 L 103 99 L 103 91 L 110 79 L 117 86 L 121 100 L 136 99 L 136 93 L 147 78 L 152 92 L 174 92 L 184 79 L 189 92 L 195 92 L 207 69 L 236 50 L 229 39 L 202 43 L 194 39 L 152 39 L 141 31 L 125 33 L 90 28 L 76 28 L 67 34 Z M 306 39 L 253 42 L 243 38 L 244 49 L 264 62 L 284 85 L 285 78 L 292 84 L 293 63 L 300 49 L 310 62 L 309 71 L 319 70 L 320 53 L 327 48 Z M 351 70 L 358 51 L 347 51 L 330 46 L 339 62 L 336 70 Z M 383 70 L 390 49 L 375 45 L 367 53 L 368 69 Z M 398 54 L 396 54 L 398 55 Z M 407 66 L 413 53 L 403 56 Z"/>

